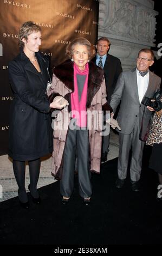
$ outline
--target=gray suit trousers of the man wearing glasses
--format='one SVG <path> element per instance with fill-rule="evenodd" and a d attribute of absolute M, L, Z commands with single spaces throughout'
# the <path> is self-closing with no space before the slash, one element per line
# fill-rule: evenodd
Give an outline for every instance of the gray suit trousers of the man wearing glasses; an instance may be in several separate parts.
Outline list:
<path fill-rule="evenodd" d="M 132 147 L 132 159 L 130 166 L 130 176 L 132 181 L 138 181 L 141 174 L 142 154 L 145 142 L 139 139 L 139 121 L 135 123 L 130 135 L 119 133 L 119 158 L 118 158 L 118 178 L 125 179 L 127 175 L 129 152 Z"/>

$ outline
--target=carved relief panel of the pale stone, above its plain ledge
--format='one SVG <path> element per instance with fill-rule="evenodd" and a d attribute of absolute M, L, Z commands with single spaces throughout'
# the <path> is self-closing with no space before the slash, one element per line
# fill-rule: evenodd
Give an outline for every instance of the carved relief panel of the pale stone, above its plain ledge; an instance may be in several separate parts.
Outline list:
<path fill-rule="evenodd" d="M 102 0 L 100 4 L 100 29 L 141 42 L 153 42 L 156 11 L 131 0 Z"/>

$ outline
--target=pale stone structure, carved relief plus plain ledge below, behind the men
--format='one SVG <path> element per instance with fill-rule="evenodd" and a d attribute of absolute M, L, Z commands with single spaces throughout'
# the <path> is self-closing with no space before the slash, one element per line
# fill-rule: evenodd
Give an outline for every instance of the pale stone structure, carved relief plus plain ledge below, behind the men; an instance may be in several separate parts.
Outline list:
<path fill-rule="evenodd" d="M 135 66 L 141 48 L 154 46 L 155 16 L 152 0 L 100 0 L 98 37 L 111 41 L 109 53 L 121 60 L 123 70 Z"/>

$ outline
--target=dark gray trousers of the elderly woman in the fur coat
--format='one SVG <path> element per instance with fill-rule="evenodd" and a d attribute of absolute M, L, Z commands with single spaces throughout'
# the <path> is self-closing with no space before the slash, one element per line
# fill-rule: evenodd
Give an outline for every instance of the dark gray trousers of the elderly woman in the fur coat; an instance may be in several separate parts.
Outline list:
<path fill-rule="evenodd" d="M 73 192 L 76 153 L 79 194 L 83 198 L 88 198 L 92 194 L 88 130 L 68 130 L 64 149 L 63 175 L 60 180 L 60 193 L 64 197 L 70 197 Z"/>

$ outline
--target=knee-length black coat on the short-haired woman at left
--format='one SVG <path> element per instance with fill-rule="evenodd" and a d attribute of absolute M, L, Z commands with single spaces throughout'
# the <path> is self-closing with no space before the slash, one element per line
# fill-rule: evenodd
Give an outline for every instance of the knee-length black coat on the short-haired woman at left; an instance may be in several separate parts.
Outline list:
<path fill-rule="evenodd" d="M 46 95 L 48 59 L 36 53 L 39 73 L 23 51 L 9 63 L 14 92 L 10 108 L 9 156 L 29 161 L 53 151 L 51 114 Z"/>

